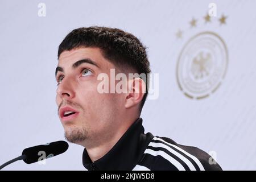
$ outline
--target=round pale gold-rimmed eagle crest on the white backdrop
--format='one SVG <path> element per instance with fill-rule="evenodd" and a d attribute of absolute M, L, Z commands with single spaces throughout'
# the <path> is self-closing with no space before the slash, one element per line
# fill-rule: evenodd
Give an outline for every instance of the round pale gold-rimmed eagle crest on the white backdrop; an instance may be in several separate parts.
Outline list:
<path fill-rule="evenodd" d="M 185 44 L 177 60 L 177 82 L 189 98 L 205 98 L 215 92 L 225 77 L 228 49 L 214 32 L 201 32 Z"/>

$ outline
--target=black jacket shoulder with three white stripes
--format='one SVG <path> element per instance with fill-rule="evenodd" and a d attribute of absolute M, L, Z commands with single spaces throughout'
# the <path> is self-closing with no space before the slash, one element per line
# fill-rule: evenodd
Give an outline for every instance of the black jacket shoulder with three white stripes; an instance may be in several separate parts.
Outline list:
<path fill-rule="evenodd" d="M 222 170 L 207 152 L 197 147 L 177 144 L 167 137 L 154 137 L 144 155 L 151 170 Z"/>

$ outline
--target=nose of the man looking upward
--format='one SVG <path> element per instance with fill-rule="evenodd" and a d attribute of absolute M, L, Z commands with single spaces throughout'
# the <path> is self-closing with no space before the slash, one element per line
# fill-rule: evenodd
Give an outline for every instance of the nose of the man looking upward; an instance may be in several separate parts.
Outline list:
<path fill-rule="evenodd" d="M 71 98 L 75 97 L 74 86 L 75 84 L 72 78 L 67 76 L 64 77 L 57 87 L 57 96 L 59 96 L 62 100 L 70 100 Z"/>

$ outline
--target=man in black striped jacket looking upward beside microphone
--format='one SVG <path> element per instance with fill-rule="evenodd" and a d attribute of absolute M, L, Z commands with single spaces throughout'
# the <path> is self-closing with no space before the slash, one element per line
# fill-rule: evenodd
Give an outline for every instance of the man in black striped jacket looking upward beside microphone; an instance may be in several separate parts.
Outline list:
<path fill-rule="evenodd" d="M 146 48 L 134 35 L 117 28 L 78 28 L 61 42 L 58 60 L 59 117 L 65 138 L 85 147 L 82 163 L 86 169 L 221 169 L 199 148 L 144 134 L 140 115 L 151 71 Z M 122 80 L 127 92 L 110 92 L 113 85 L 108 83 L 112 82 L 114 88 L 118 84 L 111 81 L 113 70 L 114 76 L 139 76 Z M 140 77 L 142 73 L 146 77 Z M 99 79 L 102 74 L 109 78 L 103 86 Z"/>

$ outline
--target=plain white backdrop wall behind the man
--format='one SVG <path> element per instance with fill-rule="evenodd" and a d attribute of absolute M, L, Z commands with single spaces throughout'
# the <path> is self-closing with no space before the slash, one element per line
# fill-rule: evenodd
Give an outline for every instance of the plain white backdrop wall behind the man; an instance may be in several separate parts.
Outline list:
<path fill-rule="evenodd" d="M 148 47 L 160 82 L 159 98 L 148 100 L 142 112 L 146 131 L 214 151 L 225 170 L 255 170 L 256 1 L 214 1 L 217 16 L 205 23 L 211 2 L 1 0 L 0 164 L 26 147 L 64 139 L 55 104 L 57 48 L 74 28 L 97 25 L 131 32 Z M 222 15 L 227 18 L 221 24 Z M 193 18 L 195 27 L 189 24 Z M 224 40 L 229 59 L 216 92 L 197 100 L 180 90 L 176 71 L 181 49 L 203 31 Z M 82 151 L 69 144 L 46 165 L 19 161 L 4 169 L 82 170 Z"/>

